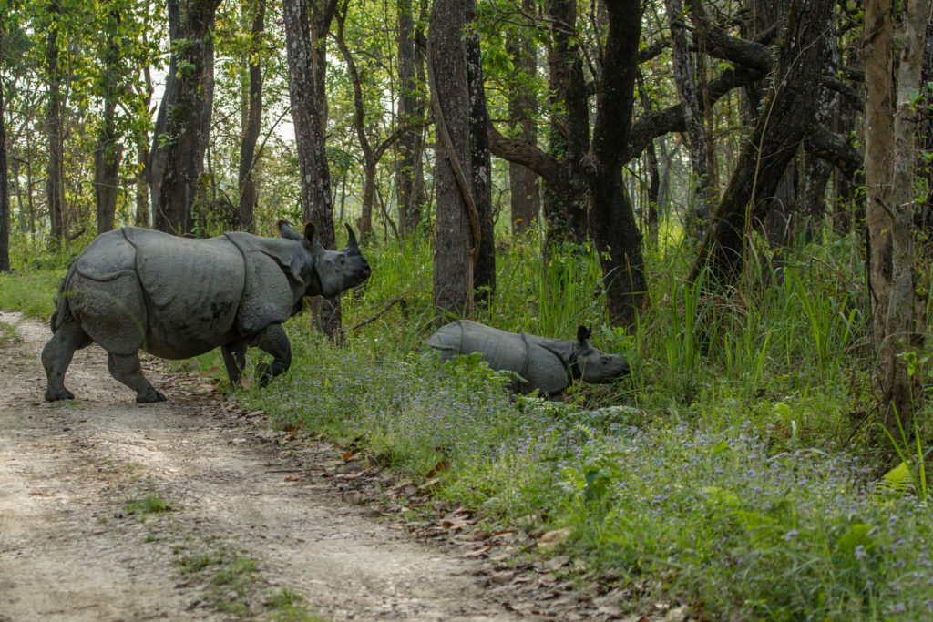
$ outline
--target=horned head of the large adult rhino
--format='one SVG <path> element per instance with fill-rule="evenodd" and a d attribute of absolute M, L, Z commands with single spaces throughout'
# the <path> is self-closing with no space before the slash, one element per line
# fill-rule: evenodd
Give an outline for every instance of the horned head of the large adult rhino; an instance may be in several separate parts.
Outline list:
<path fill-rule="evenodd" d="M 360 252 L 356 236 L 349 225 L 346 228 L 350 238 L 342 251 L 325 249 L 314 236 L 314 225 L 311 222 L 305 223 L 303 236 L 285 220 L 278 221 L 276 227 L 279 235 L 286 240 L 303 242 L 305 250 L 313 257 L 313 261 L 307 262 L 304 269 L 311 272 L 306 275 L 307 278 L 302 279 L 310 283 L 305 296 L 337 296 L 343 290 L 355 287 L 369 278 L 372 270 Z"/>

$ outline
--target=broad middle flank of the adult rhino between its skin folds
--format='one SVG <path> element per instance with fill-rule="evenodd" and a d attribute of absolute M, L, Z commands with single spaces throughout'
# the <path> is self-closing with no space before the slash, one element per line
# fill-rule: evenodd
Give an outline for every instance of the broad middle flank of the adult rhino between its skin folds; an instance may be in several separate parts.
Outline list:
<path fill-rule="evenodd" d="M 244 260 L 223 237 L 189 240 L 127 228 L 146 296 L 146 351 L 187 358 L 237 337 L 232 330 L 244 291 Z"/>

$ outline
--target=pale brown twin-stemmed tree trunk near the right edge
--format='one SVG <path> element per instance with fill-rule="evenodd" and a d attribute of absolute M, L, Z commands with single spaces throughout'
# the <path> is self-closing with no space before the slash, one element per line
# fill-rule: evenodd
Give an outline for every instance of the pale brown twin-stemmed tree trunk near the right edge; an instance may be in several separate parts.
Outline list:
<path fill-rule="evenodd" d="M 892 6 L 869 0 L 865 7 L 865 188 L 868 195 L 872 338 L 882 381 L 884 425 L 901 442 L 898 428 L 912 432 L 914 413 L 907 361 L 913 317 L 913 181 L 916 172 L 914 93 L 920 87 L 926 34 L 926 2 L 910 0 L 903 21 L 897 107 L 893 94 Z M 916 398 L 921 395 L 918 393 Z M 898 424 L 899 420 L 899 424 Z"/>

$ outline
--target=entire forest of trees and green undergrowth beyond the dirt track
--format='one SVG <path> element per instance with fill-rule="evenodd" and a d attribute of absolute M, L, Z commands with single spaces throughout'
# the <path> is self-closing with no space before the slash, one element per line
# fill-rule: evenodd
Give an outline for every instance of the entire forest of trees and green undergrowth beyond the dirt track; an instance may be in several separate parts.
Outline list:
<path fill-rule="evenodd" d="M 122 225 L 285 217 L 333 248 L 350 223 L 369 283 L 290 322 L 295 364 L 244 403 L 550 534 L 535 554 L 572 555 L 555 572 L 626 610 L 933 610 L 926 3 L 0 16 L 0 306 L 48 317 L 67 261 Z M 466 316 L 593 325 L 633 376 L 511 397 L 475 358 L 425 353 Z"/>

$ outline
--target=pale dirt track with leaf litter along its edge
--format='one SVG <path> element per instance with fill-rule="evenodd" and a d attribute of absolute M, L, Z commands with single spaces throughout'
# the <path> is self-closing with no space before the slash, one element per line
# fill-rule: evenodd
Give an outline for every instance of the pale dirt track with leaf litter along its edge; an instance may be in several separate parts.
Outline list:
<path fill-rule="evenodd" d="M 439 506 L 425 521 L 422 488 L 158 360 L 167 402 L 136 404 L 91 346 L 68 370 L 77 399 L 47 403 L 48 326 L 0 323 L 0 620 L 620 615 L 556 578 L 566 558 L 517 566 L 535 534 Z"/>

